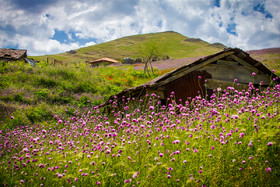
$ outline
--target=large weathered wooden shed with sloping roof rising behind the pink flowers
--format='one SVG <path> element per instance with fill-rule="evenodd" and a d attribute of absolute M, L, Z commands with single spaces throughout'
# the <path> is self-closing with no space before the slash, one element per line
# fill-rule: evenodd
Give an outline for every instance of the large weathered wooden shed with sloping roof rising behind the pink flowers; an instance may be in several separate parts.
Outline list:
<path fill-rule="evenodd" d="M 217 88 L 247 89 L 250 82 L 257 87 L 260 83 L 262 87 L 267 87 L 271 79 L 276 77 L 248 53 L 238 48 L 227 48 L 187 63 L 143 85 L 125 89 L 111 96 L 109 100 L 114 98 L 121 100 L 123 96 L 137 99 L 147 93 L 155 93 L 161 97 L 164 104 L 170 93 L 175 92 L 176 100 L 182 99 L 184 102 L 197 95 L 205 96 L 206 91 L 208 95 L 211 95 Z M 279 79 L 276 80 L 280 83 Z M 109 103 L 106 102 L 105 105 L 107 104 Z"/>

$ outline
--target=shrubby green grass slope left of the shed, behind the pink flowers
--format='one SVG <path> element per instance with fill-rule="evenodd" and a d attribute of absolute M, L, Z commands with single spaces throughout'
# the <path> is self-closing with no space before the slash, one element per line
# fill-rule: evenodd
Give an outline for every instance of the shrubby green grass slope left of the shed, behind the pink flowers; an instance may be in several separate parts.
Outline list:
<path fill-rule="evenodd" d="M 68 115 L 75 107 L 99 105 L 125 88 L 143 84 L 152 77 L 133 66 L 90 68 L 85 63 L 35 68 L 23 62 L 0 66 L 1 128 L 51 120 L 55 113 Z M 10 116 L 21 121 L 11 122 Z"/>

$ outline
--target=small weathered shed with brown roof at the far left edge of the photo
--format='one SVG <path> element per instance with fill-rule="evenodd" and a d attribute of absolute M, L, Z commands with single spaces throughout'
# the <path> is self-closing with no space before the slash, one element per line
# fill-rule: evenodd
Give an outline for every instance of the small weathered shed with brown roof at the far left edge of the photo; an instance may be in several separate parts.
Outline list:
<path fill-rule="evenodd" d="M 0 61 L 22 60 L 27 57 L 25 49 L 0 48 Z"/>

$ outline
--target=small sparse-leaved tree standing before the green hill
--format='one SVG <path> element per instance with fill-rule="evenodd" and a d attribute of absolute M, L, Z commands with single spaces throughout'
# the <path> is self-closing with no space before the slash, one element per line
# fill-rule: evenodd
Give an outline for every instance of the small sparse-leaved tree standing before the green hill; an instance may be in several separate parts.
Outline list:
<path fill-rule="evenodd" d="M 150 65 L 151 71 L 154 74 L 154 69 L 152 66 L 152 61 L 153 59 L 157 59 L 160 56 L 163 55 L 163 45 L 161 44 L 160 41 L 157 40 L 150 40 L 148 42 L 145 42 L 143 45 L 139 46 L 139 54 L 140 57 L 142 58 L 142 61 L 145 63 L 144 67 L 144 73 L 149 74 L 149 67 L 148 64 Z"/>

